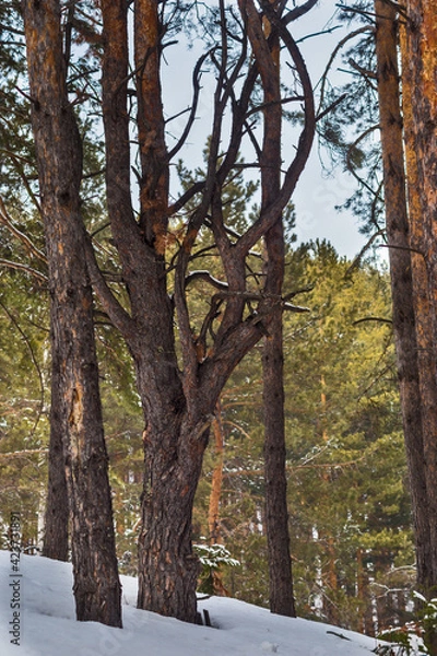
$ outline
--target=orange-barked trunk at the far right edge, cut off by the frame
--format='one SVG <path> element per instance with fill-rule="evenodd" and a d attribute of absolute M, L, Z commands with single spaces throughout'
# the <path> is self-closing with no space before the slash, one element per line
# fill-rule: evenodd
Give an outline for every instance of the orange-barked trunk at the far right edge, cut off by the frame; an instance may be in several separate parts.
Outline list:
<path fill-rule="evenodd" d="M 406 3 L 402 37 L 402 83 L 411 246 L 422 393 L 425 473 L 430 525 L 432 579 L 437 591 L 437 7 L 427 0 Z M 423 582 L 425 583 L 425 582 Z"/>

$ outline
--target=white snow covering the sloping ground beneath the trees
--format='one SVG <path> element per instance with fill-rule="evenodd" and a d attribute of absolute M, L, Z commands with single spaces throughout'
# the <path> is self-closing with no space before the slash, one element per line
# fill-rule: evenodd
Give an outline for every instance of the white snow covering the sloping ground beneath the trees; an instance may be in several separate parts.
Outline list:
<path fill-rule="evenodd" d="M 137 579 L 121 583 L 123 629 L 76 622 L 70 563 L 21 555 L 14 572 L 11 553 L 0 551 L 1 656 L 368 656 L 377 646 L 358 633 L 224 597 L 199 601 L 213 628 L 196 626 L 137 610 Z M 14 612 L 20 626 L 10 634 Z"/>

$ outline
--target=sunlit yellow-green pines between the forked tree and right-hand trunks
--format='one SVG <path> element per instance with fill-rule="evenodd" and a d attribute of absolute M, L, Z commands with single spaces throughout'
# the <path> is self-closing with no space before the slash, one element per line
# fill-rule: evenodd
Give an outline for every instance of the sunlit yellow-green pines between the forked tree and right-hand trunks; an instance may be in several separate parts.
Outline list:
<path fill-rule="evenodd" d="M 404 593 L 391 590 L 408 595 L 414 554 L 389 280 L 370 265 L 350 268 L 326 243 L 288 255 L 292 289 L 314 285 L 310 313 L 284 319 L 288 508 L 298 614 L 371 632 L 371 600 L 380 623 L 404 618 Z M 267 606 L 259 371 L 255 353 L 222 399 L 221 535 L 241 563 L 225 587 Z M 200 535 L 210 458 L 198 492 Z"/>

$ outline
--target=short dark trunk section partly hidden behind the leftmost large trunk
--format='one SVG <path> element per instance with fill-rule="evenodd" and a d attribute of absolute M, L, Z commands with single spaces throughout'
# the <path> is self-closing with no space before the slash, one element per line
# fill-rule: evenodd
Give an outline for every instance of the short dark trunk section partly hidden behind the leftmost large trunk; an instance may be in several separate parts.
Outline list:
<path fill-rule="evenodd" d="M 54 313 L 56 314 L 56 313 Z M 50 443 L 48 456 L 48 493 L 46 501 L 43 555 L 67 561 L 69 554 L 69 501 L 66 479 L 63 436 L 67 433 L 62 413 L 61 358 L 51 339 Z"/>

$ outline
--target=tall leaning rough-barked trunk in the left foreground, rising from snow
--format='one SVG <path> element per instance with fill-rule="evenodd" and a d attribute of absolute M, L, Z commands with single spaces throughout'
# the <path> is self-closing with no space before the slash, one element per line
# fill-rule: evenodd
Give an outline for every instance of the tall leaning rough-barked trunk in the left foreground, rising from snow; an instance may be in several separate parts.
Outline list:
<path fill-rule="evenodd" d="M 121 626 L 108 458 L 103 433 L 81 216 L 81 139 L 68 101 L 56 0 L 24 2 L 32 124 L 49 267 L 51 329 L 60 359 L 76 617 Z"/>

